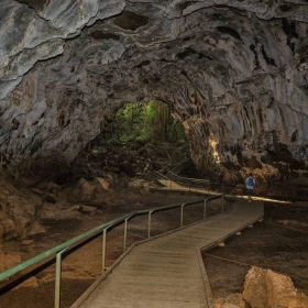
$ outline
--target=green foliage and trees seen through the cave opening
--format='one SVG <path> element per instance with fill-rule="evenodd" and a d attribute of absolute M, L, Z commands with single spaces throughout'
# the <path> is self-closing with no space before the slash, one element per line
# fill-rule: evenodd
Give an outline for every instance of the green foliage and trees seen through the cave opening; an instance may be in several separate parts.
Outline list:
<path fill-rule="evenodd" d="M 175 120 L 166 103 L 152 100 L 147 103 L 127 103 L 110 114 L 101 132 L 103 140 L 119 142 L 186 143 L 183 124 Z"/>

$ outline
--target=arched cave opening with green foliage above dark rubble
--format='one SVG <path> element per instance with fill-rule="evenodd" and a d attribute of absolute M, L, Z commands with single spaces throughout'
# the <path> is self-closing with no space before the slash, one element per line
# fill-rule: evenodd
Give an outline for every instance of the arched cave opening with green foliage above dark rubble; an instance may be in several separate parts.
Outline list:
<path fill-rule="evenodd" d="M 82 155 L 105 173 L 130 177 L 166 174 L 190 161 L 183 123 L 156 100 L 127 103 L 110 113 Z"/>

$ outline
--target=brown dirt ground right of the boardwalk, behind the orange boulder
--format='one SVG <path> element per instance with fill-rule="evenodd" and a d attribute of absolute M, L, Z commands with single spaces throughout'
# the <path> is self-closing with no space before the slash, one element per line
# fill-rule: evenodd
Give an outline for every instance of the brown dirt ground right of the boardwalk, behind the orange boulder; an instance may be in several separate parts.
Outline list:
<path fill-rule="evenodd" d="M 308 206 L 265 202 L 263 222 L 232 237 L 224 248 L 204 252 L 204 262 L 216 298 L 242 293 L 253 266 L 290 276 L 308 295 Z"/>

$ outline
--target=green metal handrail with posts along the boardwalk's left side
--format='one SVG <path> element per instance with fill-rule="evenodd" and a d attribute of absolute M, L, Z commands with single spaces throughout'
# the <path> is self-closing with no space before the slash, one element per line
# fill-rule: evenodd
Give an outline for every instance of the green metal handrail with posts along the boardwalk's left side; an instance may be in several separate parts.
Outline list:
<path fill-rule="evenodd" d="M 151 221 L 152 221 L 152 215 L 156 211 L 164 211 L 167 209 L 174 209 L 174 208 L 180 208 L 180 221 L 179 221 L 179 228 L 184 227 L 184 208 L 187 206 L 191 206 L 191 205 L 196 205 L 196 204 L 200 204 L 204 202 L 204 213 L 202 213 L 202 220 L 206 219 L 206 215 L 207 215 L 207 202 L 213 199 L 219 199 L 221 198 L 221 213 L 226 212 L 227 210 L 229 210 L 229 206 L 226 209 L 224 208 L 224 202 L 223 201 L 228 201 L 228 202 L 232 202 L 234 201 L 234 195 L 232 195 L 233 193 L 229 193 L 229 194 L 222 194 L 219 196 L 215 196 L 215 197 L 210 197 L 207 199 L 199 199 L 199 200 L 195 200 L 191 202 L 185 202 L 185 204 L 176 204 L 176 205 L 169 205 L 169 206 L 164 206 L 164 207 L 158 207 L 158 208 L 152 208 L 152 209 L 145 209 L 145 210 L 138 210 L 134 211 L 132 213 L 122 216 L 120 218 L 117 218 L 114 220 L 111 220 L 109 222 L 106 222 L 97 228 L 94 228 L 76 238 L 73 238 L 68 241 L 66 241 L 65 243 L 62 243 L 48 251 L 45 251 L 25 262 L 22 262 L 20 264 L 18 264 L 16 266 L 7 270 L 6 272 L 0 273 L 0 282 L 2 282 L 6 278 L 11 277 L 12 275 L 29 268 L 30 266 L 37 264 L 38 262 L 45 261 L 43 264 L 46 264 L 47 262 L 51 261 L 50 256 L 54 256 L 55 255 L 55 260 L 56 260 L 56 271 L 55 271 L 55 304 L 54 307 L 55 308 L 59 308 L 59 290 L 61 290 L 61 273 L 62 273 L 62 256 L 63 253 L 65 251 L 69 251 L 73 249 L 79 249 L 80 246 L 82 246 L 87 241 L 92 240 L 94 238 L 96 238 L 96 235 L 98 235 L 99 233 L 102 234 L 102 257 L 101 257 L 101 271 L 102 273 L 105 272 L 106 268 L 106 244 L 107 244 L 107 232 L 108 230 L 110 230 L 112 227 L 119 226 L 121 223 L 124 223 L 124 238 L 123 238 L 123 252 L 125 252 L 127 250 L 127 239 L 128 239 L 128 223 L 129 220 L 135 216 L 142 216 L 142 215 L 147 215 L 147 239 L 151 239 Z M 92 238 L 92 239 L 91 239 Z M 78 244 L 78 246 L 77 246 Z M 26 275 L 26 274 L 23 274 Z"/>

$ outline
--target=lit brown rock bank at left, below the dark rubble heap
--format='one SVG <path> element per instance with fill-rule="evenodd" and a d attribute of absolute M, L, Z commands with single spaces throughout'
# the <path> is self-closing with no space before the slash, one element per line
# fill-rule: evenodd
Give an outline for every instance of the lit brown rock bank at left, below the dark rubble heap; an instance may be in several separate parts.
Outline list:
<path fill-rule="evenodd" d="M 98 206 L 122 204 L 147 191 L 146 180 L 142 178 L 130 178 L 123 172 L 111 173 L 109 167 L 100 168 L 96 163 L 91 167 L 85 164 L 85 168 L 86 173 L 80 168 L 70 182 L 61 185 L 37 178 L 16 182 L 2 172 L 0 243 L 44 232 L 38 223 L 42 219 L 75 218 L 82 212 L 95 212 Z"/>

